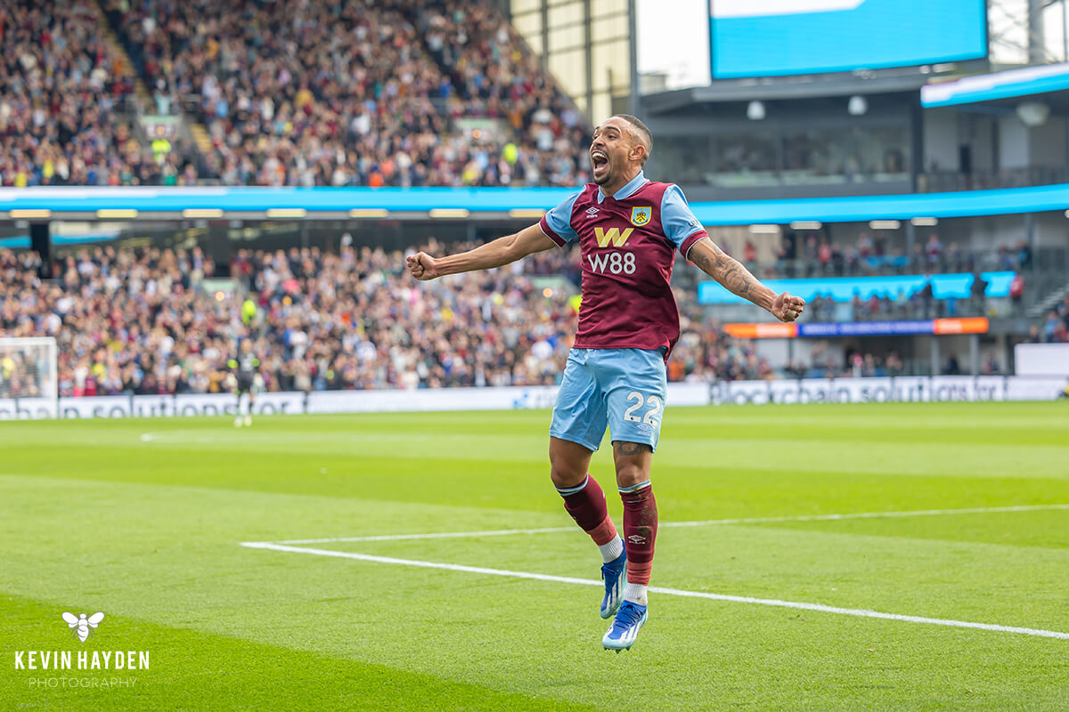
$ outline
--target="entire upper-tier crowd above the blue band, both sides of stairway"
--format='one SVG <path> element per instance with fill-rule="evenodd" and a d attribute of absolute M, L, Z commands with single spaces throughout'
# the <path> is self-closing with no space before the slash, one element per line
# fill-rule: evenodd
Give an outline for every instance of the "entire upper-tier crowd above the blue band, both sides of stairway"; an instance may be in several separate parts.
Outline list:
<path fill-rule="evenodd" d="M 579 113 L 490 3 L 102 4 L 0 0 L 0 185 L 588 178 Z M 205 125 L 206 155 L 139 138 L 139 111 L 183 110 Z"/>

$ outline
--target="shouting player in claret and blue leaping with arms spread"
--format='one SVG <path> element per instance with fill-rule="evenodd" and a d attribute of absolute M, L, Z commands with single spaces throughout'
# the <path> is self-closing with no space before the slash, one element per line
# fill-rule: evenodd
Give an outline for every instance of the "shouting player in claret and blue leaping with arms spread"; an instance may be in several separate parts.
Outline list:
<path fill-rule="evenodd" d="M 583 302 L 549 426 L 549 476 L 564 509 L 601 550 L 601 616 L 614 617 L 602 646 L 617 651 L 631 648 L 647 618 L 657 533 L 650 464 L 661 436 L 665 363 L 679 338 L 673 251 L 780 321 L 793 321 L 805 306 L 799 297 L 775 295 L 717 248 L 677 186 L 646 179 L 642 165 L 652 148 L 641 121 L 613 116 L 594 129 L 590 144 L 594 181 L 537 225 L 468 252 L 407 258 L 413 276 L 431 280 L 579 241 Z M 623 500 L 623 538 L 588 474 L 606 426 Z"/>

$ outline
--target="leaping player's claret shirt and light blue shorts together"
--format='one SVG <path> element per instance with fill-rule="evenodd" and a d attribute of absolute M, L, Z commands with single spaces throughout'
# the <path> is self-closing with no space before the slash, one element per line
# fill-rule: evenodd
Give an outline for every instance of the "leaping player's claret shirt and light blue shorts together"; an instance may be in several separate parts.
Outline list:
<path fill-rule="evenodd" d="M 639 173 L 614 195 L 589 184 L 540 223 L 558 246 L 579 240 L 583 303 L 549 434 L 598 449 L 614 441 L 656 449 L 665 362 L 679 338 L 671 292 L 676 250 L 707 237 L 683 191 Z"/>

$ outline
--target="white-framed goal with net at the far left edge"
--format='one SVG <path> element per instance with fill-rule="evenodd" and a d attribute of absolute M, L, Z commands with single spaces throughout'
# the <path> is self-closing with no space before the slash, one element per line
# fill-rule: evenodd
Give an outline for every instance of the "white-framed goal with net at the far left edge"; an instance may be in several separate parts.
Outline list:
<path fill-rule="evenodd" d="M 0 420 L 56 417 L 56 339 L 0 337 Z"/>

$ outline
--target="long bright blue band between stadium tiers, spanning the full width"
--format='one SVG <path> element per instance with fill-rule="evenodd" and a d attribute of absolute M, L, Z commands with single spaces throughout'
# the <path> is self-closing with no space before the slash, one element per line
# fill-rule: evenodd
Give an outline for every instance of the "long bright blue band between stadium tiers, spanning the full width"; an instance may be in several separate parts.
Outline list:
<path fill-rule="evenodd" d="M 10 188 L 0 220 L 533 220 L 568 188 Z M 1069 184 L 954 193 L 695 202 L 706 225 L 857 222 L 1069 208 Z"/>

